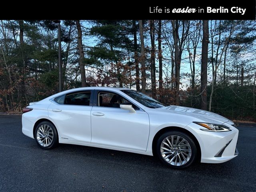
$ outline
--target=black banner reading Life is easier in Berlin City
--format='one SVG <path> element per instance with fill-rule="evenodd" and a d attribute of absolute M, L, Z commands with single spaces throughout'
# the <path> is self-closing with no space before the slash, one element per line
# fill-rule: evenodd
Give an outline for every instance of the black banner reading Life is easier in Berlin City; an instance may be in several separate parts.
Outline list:
<path fill-rule="evenodd" d="M 5 5 L 8 7 L 8 5 Z M 11 5 L 10 5 L 11 6 Z M 207 2 L 179 1 L 154 2 L 44 2 L 40 6 L 16 6 L 10 13 L 0 13 L 1 19 L 184 19 L 184 20 L 255 20 L 256 1 L 225 2 L 214 0 Z M 15 14 L 14 14 L 15 13 Z"/>

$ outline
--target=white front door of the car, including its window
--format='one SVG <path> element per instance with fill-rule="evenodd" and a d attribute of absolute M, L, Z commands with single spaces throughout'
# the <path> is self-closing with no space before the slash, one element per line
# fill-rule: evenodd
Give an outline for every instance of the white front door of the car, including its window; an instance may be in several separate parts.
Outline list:
<path fill-rule="evenodd" d="M 91 111 L 92 143 L 146 151 L 149 136 L 148 114 L 136 107 L 136 113 L 120 108 L 126 98 L 115 92 L 95 90 Z"/>

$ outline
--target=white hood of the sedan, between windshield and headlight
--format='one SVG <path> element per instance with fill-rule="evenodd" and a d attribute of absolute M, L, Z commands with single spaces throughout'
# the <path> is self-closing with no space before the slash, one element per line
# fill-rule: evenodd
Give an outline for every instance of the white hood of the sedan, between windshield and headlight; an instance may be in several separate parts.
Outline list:
<path fill-rule="evenodd" d="M 223 124 L 225 122 L 228 122 L 229 120 L 221 115 L 218 115 L 216 113 L 212 113 L 209 111 L 204 111 L 200 109 L 195 108 L 189 108 L 189 107 L 182 107 L 182 106 L 166 106 L 162 108 L 156 108 L 157 110 L 162 110 L 170 113 L 176 113 L 176 114 L 182 114 L 186 116 L 195 117 L 201 120 L 201 122 L 208 122 L 208 123 L 218 123 Z"/>

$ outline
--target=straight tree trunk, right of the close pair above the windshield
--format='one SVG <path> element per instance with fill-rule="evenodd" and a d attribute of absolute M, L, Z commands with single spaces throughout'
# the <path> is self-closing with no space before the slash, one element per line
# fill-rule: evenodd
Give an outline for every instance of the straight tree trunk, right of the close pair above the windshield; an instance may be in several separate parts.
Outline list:
<path fill-rule="evenodd" d="M 162 89 L 163 89 L 163 58 L 162 58 L 162 20 L 158 21 L 158 62 L 159 62 L 159 92 L 160 92 L 160 101 L 162 102 Z"/>

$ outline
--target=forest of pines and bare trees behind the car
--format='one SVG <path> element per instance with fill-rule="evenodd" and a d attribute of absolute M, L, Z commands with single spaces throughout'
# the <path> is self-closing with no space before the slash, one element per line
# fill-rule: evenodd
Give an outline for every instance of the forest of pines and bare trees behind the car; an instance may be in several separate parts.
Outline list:
<path fill-rule="evenodd" d="M 256 122 L 255 20 L 61 20 L 63 90 L 126 87 Z M 0 20 L 0 112 L 58 90 L 58 24 Z"/>

